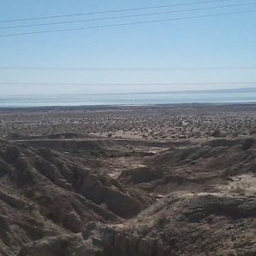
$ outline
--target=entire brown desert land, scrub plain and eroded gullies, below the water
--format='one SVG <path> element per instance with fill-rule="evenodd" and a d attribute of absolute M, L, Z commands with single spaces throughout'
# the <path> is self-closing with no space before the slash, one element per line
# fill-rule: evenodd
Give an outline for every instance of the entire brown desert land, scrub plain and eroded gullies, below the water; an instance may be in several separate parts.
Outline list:
<path fill-rule="evenodd" d="M 256 255 L 256 105 L 0 109 L 0 255 Z"/>

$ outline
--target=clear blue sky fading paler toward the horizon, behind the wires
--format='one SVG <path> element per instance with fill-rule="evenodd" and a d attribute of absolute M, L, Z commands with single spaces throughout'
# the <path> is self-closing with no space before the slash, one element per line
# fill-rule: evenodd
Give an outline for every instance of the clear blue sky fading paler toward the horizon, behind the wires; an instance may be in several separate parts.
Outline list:
<path fill-rule="evenodd" d="M 256 81 L 256 12 L 253 13 L 254 10 L 256 11 L 255 0 L 226 0 L 218 3 L 172 6 L 165 9 L 1 22 L 49 15 L 72 15 L 198 2 L 206 1 L 0 0 L 1 96 L 213 90 L 256 86 L 256 84 L 242 83 Z M 247 3 L 250 5 L 222 7 Z M 190 10 L 210 7 L 222 8 Z M 6 26 L 141 15 L 183 9 L 189 10 L 183 13 L 84 21 L 61 26 L 3 29 Z M 195 15 L 237 11 L 251 12 L 182 20 L 183 17 Z M 181 20 L 1 37 L 20 32 L 176 18 Z M 229 84 L 233 82 L 236 84 Z"/>

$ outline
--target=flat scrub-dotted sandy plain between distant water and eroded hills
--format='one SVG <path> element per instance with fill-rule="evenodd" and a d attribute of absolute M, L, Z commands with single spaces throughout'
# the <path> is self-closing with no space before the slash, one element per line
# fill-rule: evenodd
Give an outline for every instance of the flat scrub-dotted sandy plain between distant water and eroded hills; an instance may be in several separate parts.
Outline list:
<path fill-rule="evenodd" d="M 0 110 L 0 137 L 77 133 L 90 137 L 202 140 L 256 132 L 256 105 Z M 214 132 L 215 131 L 215 132 Z"/>

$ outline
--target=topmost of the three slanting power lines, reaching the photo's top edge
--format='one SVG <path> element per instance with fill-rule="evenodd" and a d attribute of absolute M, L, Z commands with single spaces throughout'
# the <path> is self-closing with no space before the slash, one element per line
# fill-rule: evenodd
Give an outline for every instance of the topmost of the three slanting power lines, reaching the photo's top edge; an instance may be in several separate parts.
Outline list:
<path fill-rule="evenodd" d="M 49 15 L 49 16 L 40 16 L 40 17 L 20 18 L 15 20 L 0 20 L 0 23 L 26 21 L 26 20 L 45 20 L 45 19 L 55 19 L 55 18 L 84 16 L 84 15 L 103 15 L 103 14 L 112 14 L 112 13 L 129 12 L 129 11 L 137 11 L 137 10 L 163 9 L 163 8 L 176 7 L 176 6 L 195 5 L 195 4 L 201 4 L 201 3 L 220 3 L 220 2 L 230 2 L 230 1 L 234 1 L 234 0 L 212 0 L 212 1 L 201 1 L 201 2 L 194 2 L 194 3 L 174 3 L 174 4 L 166 4 L 166 5 L 148 6 L 148 7 L 142 7 L 142 8 L 113 9 L 113 10 L 103 10 L 103 11 L 70 14 L 70 15 Z"/>

